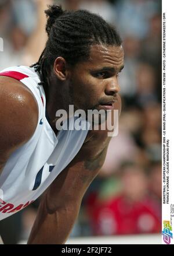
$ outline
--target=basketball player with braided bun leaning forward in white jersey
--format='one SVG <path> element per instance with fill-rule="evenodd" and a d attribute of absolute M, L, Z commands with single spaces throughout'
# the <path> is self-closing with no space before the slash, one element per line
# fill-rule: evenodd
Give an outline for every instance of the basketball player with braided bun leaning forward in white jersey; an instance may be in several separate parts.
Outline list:
<path fill-rule="evenodd" d="M 39 61 L 0 72 L 0 220 L 44 192 L 28 243 L 63 244 L 111 137 L 107 131 L 57 131 L 56 111 L 68 112 L 71 104 L 120 111 L 124 51 L 117 31 L 100 16 L 55 5 L 45 12 L 48 41 Z"/>

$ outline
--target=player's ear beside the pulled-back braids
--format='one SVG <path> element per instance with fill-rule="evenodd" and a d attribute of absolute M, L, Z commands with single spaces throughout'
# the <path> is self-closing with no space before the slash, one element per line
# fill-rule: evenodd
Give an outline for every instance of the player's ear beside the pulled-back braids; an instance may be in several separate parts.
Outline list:
<path fill-rule="evenodd" d="M 57 57 L 53 68 L 55 75 L 60 80 L 66 80 L 68 76 L 66 60 L 63 57 Z"/>

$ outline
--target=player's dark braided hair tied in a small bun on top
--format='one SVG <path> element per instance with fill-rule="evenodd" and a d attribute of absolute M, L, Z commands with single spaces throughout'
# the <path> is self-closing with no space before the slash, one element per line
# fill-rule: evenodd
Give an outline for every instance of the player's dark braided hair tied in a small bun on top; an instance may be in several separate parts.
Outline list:
<path fill-rule="evenodd" d="M 38 62 L 31 67 L 39 72 L 45 94 L 48 94 L 48 77 L 55 59 L 59 56 L 70 65 L 89 58 L 90 45 L 121 45 L 117 31 L 99 15 L 87 10 L 67 11 L 50 5 L 45 10 L 48 21 L 48 41 Z"/>

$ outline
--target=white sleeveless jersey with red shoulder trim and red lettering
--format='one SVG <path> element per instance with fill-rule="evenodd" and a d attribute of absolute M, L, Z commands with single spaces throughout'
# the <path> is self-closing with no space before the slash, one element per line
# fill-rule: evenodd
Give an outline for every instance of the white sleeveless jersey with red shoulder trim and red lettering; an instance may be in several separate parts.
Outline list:
<path fill-rule="evenodd" d="M 37 199 L 57 175 L 74 159 L 88 134 L 84 129 L 61 129 L 55 135 L 45 116 L 45 92 L 34 68 L 15 66 L 0 75 L 20 80 L 31 90 L 38 103 L 38 124 L 31 139 L 15 150 L 0 175 L 0 220 L 20 211 Z M 70 127 L 74 118 L 70 118 Z M 1 143 L 1 142 L 0 142 Z"/>

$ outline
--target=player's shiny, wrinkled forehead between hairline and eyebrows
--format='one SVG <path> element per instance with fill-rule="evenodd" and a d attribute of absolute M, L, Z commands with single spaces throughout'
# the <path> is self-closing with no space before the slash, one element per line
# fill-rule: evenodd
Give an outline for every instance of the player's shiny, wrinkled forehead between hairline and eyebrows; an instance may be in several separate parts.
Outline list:
<path fill-rule="evenodd" d="M 122 46 L 92 45 L 90 47 L 89 63 L 92 66 L 122 66 L 124 50 Z"/>

